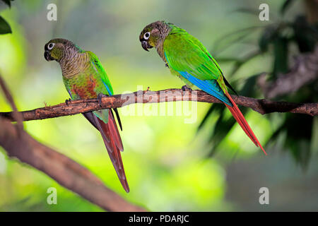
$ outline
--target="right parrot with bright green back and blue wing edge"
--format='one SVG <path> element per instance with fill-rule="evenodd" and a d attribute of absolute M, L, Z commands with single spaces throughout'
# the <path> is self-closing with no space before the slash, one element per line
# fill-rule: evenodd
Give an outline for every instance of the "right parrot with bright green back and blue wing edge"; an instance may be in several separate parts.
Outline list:
<path fill-rule="evenodd" d="M 165 61 L 165 65 L 169 67 L 171 73 L 186 83 L 182 87 L 183 90 L 191 89 L 193 85 L 196 85 L 224 102 L 247 136 L 266 155 L 240 109 L 229 95 L 227 86 L 233 91 L 234 89 L 226 81 L 216 60 L 199 40 L 189 35 L 184 29 L 165 21 L 156 21 L 146 25 L 139 35 L 139 40 L 146 51 L 153 47 L 157 49 L 159 56 Z"/>

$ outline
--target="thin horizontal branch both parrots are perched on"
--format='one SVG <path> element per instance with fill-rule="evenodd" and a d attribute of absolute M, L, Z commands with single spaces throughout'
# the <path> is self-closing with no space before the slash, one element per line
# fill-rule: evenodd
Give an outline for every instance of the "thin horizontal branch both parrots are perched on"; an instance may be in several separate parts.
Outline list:
<path fill-rule="evenodd" d="M 318 115 L 318 103 L 293 103 L 293 102 L 277 102 L 265 99 L 254 99 L 251 97 L 243 97 L 232 95 L 237 105 L 249 107 L 260 114 L 268 114 L 271 112 L 290 112 L 298 114 L 309 114 L 311 116 Z M 23 121 L 49 119 L 54 117 L 62 117 L 72 114 L 84 112 L 92 112 L 98 109 L 117 108 L 139 103 L 156 103 L 171 101 L 197 101 L 208 103 L 221 103 L 220 100 L 208 95 L 201 90 L 192 92 L 182 91 L 180 89 L 168 89 L 160 91 L 137 91 L 135 93 L 112 95 L 110 97 L 102 97 L 100 104 L 98 99 L 90 100 L 73 100 L 51 107 L 41 107 L 29 111 L 20 112 Z M 0 112 L 0 117 L 4 117 L 11 121 L 15 121 L 13 112 Z"/>

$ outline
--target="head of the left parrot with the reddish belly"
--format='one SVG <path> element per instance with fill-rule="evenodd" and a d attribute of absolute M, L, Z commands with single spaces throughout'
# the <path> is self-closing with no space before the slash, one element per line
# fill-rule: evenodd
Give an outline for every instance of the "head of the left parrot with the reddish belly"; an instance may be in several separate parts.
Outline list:
<path fill-rule="evenodd" d="M 57 38 L 45 44 L 44 57 L 47 61 L 60 61 L 74 51 L 78 52 L 79 47 L 73 44 L 73 42 Z"/>

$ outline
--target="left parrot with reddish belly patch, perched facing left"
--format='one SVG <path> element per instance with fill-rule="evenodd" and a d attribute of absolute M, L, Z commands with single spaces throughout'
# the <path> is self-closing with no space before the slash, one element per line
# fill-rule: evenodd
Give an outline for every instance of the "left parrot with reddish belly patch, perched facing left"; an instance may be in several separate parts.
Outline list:
<path fill-rule="evenodd" d="M 73 42 L 61 38 L 50 40 L 45 44 L 45 59 L 57 61 L 61 66 L 64 85 L 71 100 L 100 98 L 113 95 L 112 85 L 102 64 L 93 52 L 84 51 Z M 70 100 L 66 100 L 68 103 Z M 114 109 L 117 121 L 122 129 L 117 109 Z M 129 192 L 121 151 L 124 150 L 112 109 L 102 109 L 83 114 L 102 135 L 110 160 L 117 172 L 119 181 Z"/>

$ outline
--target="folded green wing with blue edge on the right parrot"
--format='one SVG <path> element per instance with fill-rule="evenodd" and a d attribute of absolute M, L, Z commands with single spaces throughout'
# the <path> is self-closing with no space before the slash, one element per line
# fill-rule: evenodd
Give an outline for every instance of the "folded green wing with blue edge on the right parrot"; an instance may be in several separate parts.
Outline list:
<path fill-rule="evenodd" d="M 163 43 L 163 51 L 172 73 L 232 106 L 220 66 L 199 40 L 184 30 L 172 30 Z"/>

